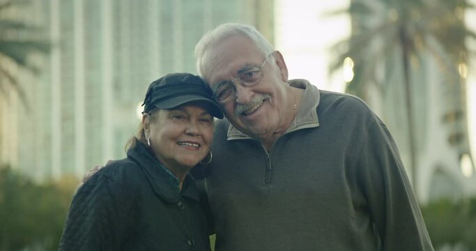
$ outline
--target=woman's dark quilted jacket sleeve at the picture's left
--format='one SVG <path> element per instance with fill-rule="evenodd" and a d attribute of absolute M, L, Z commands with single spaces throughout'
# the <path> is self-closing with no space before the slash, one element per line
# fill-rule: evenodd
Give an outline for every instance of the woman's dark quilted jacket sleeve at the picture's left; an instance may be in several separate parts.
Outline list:
<path fill-rule="evenodd" d="M 123 185 L 100 173 L 72 199 L 59 250 L 120 250 L 132 204 Z"/>

